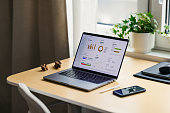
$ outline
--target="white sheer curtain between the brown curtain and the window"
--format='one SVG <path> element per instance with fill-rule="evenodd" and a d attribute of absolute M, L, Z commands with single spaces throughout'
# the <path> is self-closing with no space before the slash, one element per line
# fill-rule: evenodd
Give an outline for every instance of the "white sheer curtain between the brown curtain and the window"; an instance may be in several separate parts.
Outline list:
<path fill-rule="evenodd" d="M 96 33 L 98 0 L 73 1 L 73 54 L 83 32 Z"/>

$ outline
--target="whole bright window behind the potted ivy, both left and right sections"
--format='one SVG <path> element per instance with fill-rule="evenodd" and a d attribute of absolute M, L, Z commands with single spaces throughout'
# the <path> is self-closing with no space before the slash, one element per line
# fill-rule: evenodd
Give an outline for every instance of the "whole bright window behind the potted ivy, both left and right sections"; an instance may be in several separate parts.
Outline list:
<path fill-rule="evenodd" d="M 135 12 L 151 12 L 159 23 L 159 30 L 170 25 L 169 0 L 98 0 L 96 32 L 104 35 L 114 34 L 112 25 L 120 23 Z M 170 38 L 156 34 L 155 49 L 170 51 Z"/>

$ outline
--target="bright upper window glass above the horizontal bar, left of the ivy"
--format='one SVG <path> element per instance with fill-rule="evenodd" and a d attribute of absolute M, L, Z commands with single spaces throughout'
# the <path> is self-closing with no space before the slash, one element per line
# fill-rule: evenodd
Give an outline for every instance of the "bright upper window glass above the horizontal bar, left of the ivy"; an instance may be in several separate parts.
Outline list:
<path fill-rule="evenodd" d="M 116 24 L 137 12 L 138 0 L 98 0 L 98 23 Z"/>

